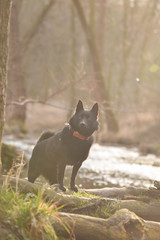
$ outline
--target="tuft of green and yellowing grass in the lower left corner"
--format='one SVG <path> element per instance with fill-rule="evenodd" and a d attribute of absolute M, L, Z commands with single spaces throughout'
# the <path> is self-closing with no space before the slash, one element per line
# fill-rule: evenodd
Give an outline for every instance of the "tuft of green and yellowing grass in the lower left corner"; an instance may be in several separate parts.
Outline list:
<path fill-rule="evenodd" d="M 42 195 L 41 192 L 38 195 L 24 195 L 7 188 L 0 190 L 0 216 L 3 221 L 17 228 L 25 240 L 58 239 L 52 222 L 54 217 L 63 224 L 56 214 L 59 209 L 55 204 L 45 202 Z"/>

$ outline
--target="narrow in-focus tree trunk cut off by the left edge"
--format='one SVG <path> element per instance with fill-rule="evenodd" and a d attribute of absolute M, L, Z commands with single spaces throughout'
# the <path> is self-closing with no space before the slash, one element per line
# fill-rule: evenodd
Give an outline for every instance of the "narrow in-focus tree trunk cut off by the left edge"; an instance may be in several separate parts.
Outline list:
<path fill-rule="evenodd" d="M 8 64 L 8 35 L 11 0 L 0 0 L 0 176 L 1 164 L 1 140 L 5 122 L 7 64 Z"/>

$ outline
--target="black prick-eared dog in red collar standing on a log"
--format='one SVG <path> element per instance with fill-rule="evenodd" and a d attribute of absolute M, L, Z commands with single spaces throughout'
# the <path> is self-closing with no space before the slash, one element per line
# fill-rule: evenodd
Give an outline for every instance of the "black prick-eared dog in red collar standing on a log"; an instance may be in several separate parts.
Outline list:
<path fill-rule="evenodd" d="M 29 162 L 28 181 L 33 183 L 43 175 L 51 185 L 58 183 L 59 188 L 66 191 L 63 186 L 64 171 L 66 165 L 72 165 L 70 188 L 77 192 L 75 177 L 88 157 L 93 143 L 92 134 L 98 129 L 97 115 L 97 103 L 91 110 L 84 110 L 79 100 L 75 114 L 61 132 L 56 135 L 50 131 L 42 133 Z"/>

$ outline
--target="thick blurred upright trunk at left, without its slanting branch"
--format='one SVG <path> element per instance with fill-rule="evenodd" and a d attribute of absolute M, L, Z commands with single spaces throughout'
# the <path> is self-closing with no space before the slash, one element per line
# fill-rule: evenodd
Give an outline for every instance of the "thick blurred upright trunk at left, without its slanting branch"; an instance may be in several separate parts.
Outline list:
<path fill-rule="evenodd" d="M 19 1 L 14 1 L 11 14 L 10 47 L 8 64 L 7 102 L 21 101 L 26 98 L 24 76 L 22 74 L 22 53 L 19 36 Z M 18 124 L 21 129 L 26 119 L 26 106 L 9 105 L 7 107 L 7 122 Z"/>

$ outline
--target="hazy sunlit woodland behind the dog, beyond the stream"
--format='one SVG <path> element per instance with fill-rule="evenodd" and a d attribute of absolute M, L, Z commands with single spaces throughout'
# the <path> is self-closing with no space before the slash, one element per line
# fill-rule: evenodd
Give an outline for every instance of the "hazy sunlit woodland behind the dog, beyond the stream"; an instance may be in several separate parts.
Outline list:
<path fill-rule="evenodd" d="M 160 1 L 14 0 L 5 133 L 58 131 L 98 102 L 100 143 L 160 153 Z"/>

